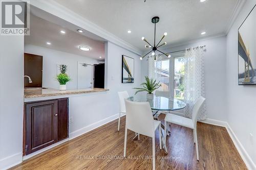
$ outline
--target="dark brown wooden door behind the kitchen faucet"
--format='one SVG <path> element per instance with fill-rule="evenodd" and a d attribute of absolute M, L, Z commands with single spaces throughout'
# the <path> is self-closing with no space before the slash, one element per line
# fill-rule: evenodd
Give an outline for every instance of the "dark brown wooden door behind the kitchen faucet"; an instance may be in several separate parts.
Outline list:
<path fill-rule="evenodd" d="M 24 53 L 24 87 L 42 87 L 42 56 Z"/>

